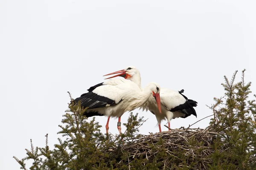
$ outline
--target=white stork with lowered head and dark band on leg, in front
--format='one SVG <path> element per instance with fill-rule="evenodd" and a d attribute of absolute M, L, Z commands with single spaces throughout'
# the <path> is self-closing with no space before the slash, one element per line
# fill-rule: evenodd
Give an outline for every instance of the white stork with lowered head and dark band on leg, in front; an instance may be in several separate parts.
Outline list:
<path fill-rule="evenodd" d="M 106 133 L 108 133 L 108 122 L 110 117 L 118 117 L 117 128 L 121 134 L 121 116 L 126 111 L 132 111 L 142 106 L 152 96 L 161 113 L 160 103 L 160 85 L 150 82 L 146 87 L 141 88 L 131 80 L 112 79 L 107 82 L 99 83 L 90 87 L 88 93 L 82 94 L 75 99 L 75 102 L 81 101 L 81 107 L 88 109 L 84 115 L 90 116 L 108 116 L 106 124 Z"/>

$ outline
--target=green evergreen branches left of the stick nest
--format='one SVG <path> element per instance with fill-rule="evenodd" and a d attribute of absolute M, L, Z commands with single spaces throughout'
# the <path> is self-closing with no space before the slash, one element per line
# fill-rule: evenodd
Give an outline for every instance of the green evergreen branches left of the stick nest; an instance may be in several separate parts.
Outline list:
<path fill-rule="evenodd" d="M 101 125 L 95 122 L 95 118 L 88 122 L 83 116 L 84 111 L 86 108 L 81 108 L 80 103 L 70 103 L 69 110 L 61 121 L 63 125 L 59 125 L 61 131 L 58 132 L 66 139 L 58 138 L 59 143 L 54 145 L 53 150 L 48 146 L 48 134 L 45 147 L 34 147 L 31 140 L 31 149 L 26 149 L 25 158 L 19 160 L 14 156 L 20 169 L 26 170 L 25 161 L 29 159 L 33 160 L 30 170 L 108 170 L 122 167 L 122 164 L 117 165 L 122 159 L 121 150 L 113 148 L 120 148 L 125 139 L 138 135 L 138 127 L 145 122 L 143 117 L 138 118 L 138 114 L 130 113 L 128 122 L 124 123 L 125 133 L 122 136 L 111 136 L 100 132 Z"/>

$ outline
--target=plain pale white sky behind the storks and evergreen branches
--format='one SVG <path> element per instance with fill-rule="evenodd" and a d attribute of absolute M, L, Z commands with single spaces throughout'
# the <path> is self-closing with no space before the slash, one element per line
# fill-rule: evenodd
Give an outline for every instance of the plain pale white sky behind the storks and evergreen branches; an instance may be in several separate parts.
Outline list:
<path fill-rule="evenodd" d="M 30 139 L 44 147 L 49 133 L 53 149 L 70 101 L 67 91 L 79 97 L 103 75 L 129 65 L 140 70 L 143 87 L 154 81 L 184 89 L 198 102 L 198 117 L 174 119 L 172 128 L 211 115 L 206 105 L 224 95 L 223 76 L 235 70 L 240 80 L 247 69 L 256 93 L 255 6 L 253 0 L 1 0 L 0 169 L 19 169 L 12 156 L 25 157 Z M 158 132 L 152 113 L 135 112 L 148 118 L 141 133 Z M 193 127 L 204 128 L 209 119 Z M 107 117 L 96 121 L 105 133 Z M 113 134 L 116 125 L 111 119 Z"/>

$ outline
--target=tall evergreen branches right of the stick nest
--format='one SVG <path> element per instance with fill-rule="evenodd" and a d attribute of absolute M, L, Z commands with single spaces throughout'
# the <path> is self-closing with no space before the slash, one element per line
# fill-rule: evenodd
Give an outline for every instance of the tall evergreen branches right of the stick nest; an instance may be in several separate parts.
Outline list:
<path fill-rule="evenodd" d="M 244 72 L 237 83 L 237 71 L 230 81 L 224 76 L 225 96 L 215 98 L 211 107 L 214 118 L 210 125 L 219 133 L 212 146 L 212 170 L 256 169 L 256 104 L 255 99 L 249 100 L 251 82 L 245 82 Z"/>

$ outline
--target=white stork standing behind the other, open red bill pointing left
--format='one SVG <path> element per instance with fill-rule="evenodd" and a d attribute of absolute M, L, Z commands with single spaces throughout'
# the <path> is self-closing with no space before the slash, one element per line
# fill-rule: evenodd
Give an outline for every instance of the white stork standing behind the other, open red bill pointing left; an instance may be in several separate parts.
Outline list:
<path fill-rule="evenodd" d="M 117 74 L 117 75 L 106 78 L 106 79 L 121 76 L 121 77 L 124 77 L 125 79 L 130 79 L 141 88 L 140 71 L 138 71 L 138 69 L 135 68 L 134 66 L 130 66 L 123 70 L 106 74 L 104 76 L 108 76 L 112 74 Z M 157 110 L 157 105 L 154 102 L 154 97 L 150 97 L 148 101 L 142 107 L 140 107 L 143 110 L 146 110 L 146 111 L 149 110 L 151 113 L 153 113 L 156 116 L 160 132 L 161 132 L 160 123 L 164 119 L 167 119 L 168 127 L 170 128 L 170 121 L 172 119 L 175 119 L 177 117 L 186 118 L 191 114 L 197 117 L 195 109 L 193 108 L 197 106 L 197 102 L 194 100 L 188 99 L 186 96 L 182 94 L 183 92 L 184 92 L 183 89 L 181 91 L 174 91 L 167 88 L 161 89 L 160 99 L 161 99 L 161 105 L 162 105 L 161 107 L 162 114 L 159 114 L 159 111 Z"/>

